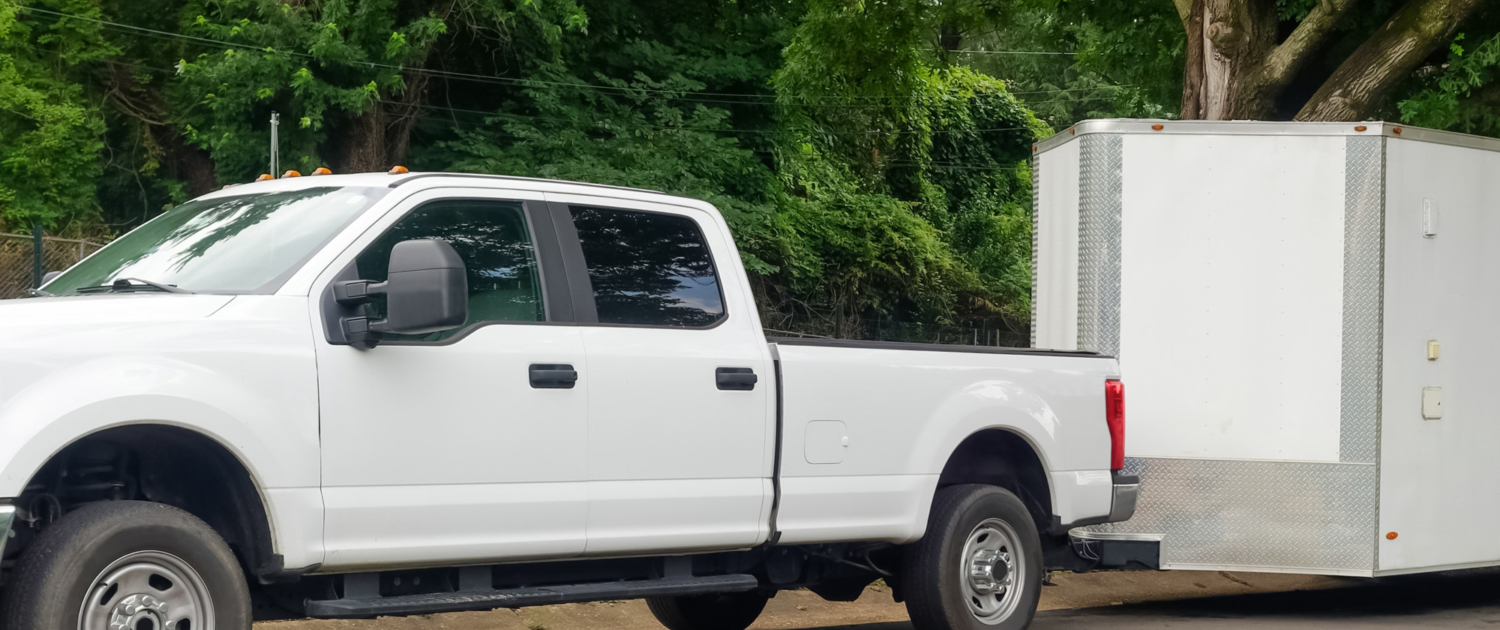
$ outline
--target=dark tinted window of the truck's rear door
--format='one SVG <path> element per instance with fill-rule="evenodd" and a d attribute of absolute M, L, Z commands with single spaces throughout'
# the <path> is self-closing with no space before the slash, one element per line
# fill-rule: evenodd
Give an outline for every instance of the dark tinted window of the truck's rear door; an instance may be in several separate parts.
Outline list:
<path fill-rule="evenodd" d="M 702 327 L 724 316 L 714 260 L 686 216 L 573 208 L 602 324 Z"/>

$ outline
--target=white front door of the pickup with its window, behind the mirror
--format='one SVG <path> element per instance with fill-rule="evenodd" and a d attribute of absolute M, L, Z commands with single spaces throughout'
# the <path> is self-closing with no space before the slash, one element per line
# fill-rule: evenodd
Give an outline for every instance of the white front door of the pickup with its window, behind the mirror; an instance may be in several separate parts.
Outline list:
<path fill-rule="evenodd" d="M 536 380 L 566 375 L 536 366 L 584 374 L 584 342 L 555 326 L 566 291 L 543 291 L 556 285 L 538 264 L 556 244 L 546 210 L 496 194 L 417 194 L 354 248 L 358 278 L 384 280 L 396 243 L 448 242 L 470 316 L 372 350 L 320 340 L 326 568 L 584 552 L 588 386 Z"/>

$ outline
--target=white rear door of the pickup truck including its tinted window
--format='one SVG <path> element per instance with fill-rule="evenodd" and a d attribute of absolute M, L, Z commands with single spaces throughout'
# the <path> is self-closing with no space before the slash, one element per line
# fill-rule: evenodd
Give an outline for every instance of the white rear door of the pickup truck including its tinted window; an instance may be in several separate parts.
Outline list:
<path fill-rule="evenodd" d="M 764 542 L 772 368 L 723 224 L 690 207 L 548 201 L 588 357 L 585 554 Z"/>

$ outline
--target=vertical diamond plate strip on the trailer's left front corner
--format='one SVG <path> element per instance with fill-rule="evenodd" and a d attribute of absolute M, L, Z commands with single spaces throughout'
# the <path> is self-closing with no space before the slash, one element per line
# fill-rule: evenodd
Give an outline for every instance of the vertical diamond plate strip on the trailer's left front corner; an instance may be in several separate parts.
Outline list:
<path fill-rule="evenodd" d="M 1120 135 L 1078 140 L 1078 350 L 1119 354 Z"/>

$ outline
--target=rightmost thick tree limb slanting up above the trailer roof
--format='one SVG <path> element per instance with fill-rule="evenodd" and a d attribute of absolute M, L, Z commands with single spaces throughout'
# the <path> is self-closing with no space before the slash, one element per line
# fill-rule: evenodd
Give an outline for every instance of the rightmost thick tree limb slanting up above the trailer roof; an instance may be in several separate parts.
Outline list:
<path fill-rule="evenodd" d="M 1424 58 L 1448 42 L 1484 0 L 1413 0 L 1348 56 L 1296 120 L 1364 120 Z"/>

